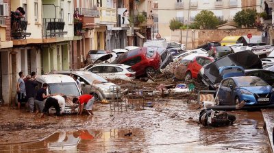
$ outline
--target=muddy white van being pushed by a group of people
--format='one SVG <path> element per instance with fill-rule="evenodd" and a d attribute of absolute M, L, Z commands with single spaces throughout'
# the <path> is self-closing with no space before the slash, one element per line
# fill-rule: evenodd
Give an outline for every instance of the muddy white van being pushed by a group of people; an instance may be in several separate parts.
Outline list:
<path fill-rule="evenodd" d="M 81 95 L 79 88 L 73 78 L 68 75 L 60 74 L 49 74 L 49 75 L 38 75 L 36 77 L 38 83 L 38 89 L 42 87 L 42 84 L 49 84 L 47 88 L 47 94 L 62 94 L 68 97 L 64 113 L 77 113 L 78 104 L 73 104 L 73 97 L 79 97 Z M 55 113 L 55 109 L 51 108 L 50 113 Z"/>

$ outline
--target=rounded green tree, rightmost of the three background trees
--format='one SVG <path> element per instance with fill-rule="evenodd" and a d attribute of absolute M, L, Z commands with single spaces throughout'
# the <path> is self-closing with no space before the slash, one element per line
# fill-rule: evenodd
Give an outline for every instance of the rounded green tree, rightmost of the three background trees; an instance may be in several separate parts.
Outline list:
<path fill-rule="evenodd" d="M 256 16 L 256 10 L 241 10 L 240 12 L 237 12 L 234 16 L 234 21 L 239 27 L 242 27 L 242 25 L 245 27 L 254 27 Z"/>

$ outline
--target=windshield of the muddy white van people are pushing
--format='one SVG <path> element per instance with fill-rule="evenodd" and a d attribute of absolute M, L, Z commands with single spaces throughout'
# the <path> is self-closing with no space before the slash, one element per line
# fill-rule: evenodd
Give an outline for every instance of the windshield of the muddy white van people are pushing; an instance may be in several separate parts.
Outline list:
<path fill-rule="evenodd" d="M 75 82 L 68 83 L 52 83 L 49 84 L 49 93 L 55 94 L 60 93 L 67 96 L 79 96 L 79 90 L 77 89 L 77 85 Z"/>

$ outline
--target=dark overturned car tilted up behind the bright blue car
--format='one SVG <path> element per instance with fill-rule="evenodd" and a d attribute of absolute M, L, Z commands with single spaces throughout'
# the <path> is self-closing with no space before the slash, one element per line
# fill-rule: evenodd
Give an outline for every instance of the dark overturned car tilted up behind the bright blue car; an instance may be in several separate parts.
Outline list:
<path fill-rule="evenodd" d="M 223 56 L 210 64 L 204 65 L 199 71 L 200 79 L 209 89 L 215 89 L 214 84 L 223 80 L 219 73 L 220 67 L 240 66 L 244 69 L 262 69 L 262 61 L 252 51 L 240 51 L 234 54 Z"/>

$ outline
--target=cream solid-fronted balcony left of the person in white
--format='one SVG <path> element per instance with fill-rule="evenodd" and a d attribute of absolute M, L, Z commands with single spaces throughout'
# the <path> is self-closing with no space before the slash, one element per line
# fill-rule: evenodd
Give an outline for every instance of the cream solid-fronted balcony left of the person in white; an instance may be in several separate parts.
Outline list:
<path fill-rule="evenodd" d="M 116 9 L 115 8 L 99 8 L 100 24 L 115 24 Z"/>

